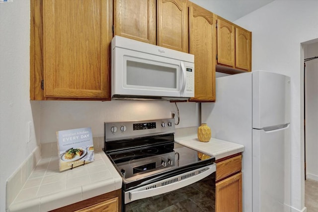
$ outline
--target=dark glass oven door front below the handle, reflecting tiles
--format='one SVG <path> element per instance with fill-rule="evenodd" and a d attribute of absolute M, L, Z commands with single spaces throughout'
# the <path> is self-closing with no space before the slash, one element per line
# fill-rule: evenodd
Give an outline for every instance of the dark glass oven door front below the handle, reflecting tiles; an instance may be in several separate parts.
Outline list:
<path fill-rule="evenodd" d="M 168 185 L 169 186 L 169 185 Z M 126 205 L 126 212 L 214 212 L 214 178 Z"/>

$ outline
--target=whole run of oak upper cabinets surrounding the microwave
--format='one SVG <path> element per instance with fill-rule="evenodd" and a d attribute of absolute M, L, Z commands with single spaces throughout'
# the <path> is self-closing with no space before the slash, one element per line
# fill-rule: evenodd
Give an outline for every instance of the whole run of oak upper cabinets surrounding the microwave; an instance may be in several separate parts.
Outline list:
<path fill-rule="evenodd" d="M 31 100 L 110 100 L 113 33 L 194 54 L 191 101 L 215 101 L 216 65 L 251 71 L 251 32 L 188 0 L 30 0 L 30 8 Z"/>

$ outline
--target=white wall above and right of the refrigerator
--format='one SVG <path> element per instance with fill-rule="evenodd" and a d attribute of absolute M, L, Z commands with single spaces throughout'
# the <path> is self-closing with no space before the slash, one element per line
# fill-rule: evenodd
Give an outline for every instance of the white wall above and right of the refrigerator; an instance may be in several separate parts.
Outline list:
<path fill-rule="evenodd" d="M 252 70 L 291 77 L 291 206 L 304 209 L 304 99 L 301 43 L 318 38 L 317 0 L 274 0 L 235 21 L 252 31 Z"/>

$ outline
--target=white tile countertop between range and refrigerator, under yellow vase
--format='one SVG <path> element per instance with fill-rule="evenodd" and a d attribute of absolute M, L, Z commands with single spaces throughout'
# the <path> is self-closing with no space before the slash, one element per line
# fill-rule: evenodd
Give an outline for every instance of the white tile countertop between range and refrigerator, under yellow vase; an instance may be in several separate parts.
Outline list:
<path fill-rule="evenodd" d="M 215 160 L 244 151 L 244 146 L 241 144 L 216 138 L 211 138 L 209 142 L 201 142 L 196 134 L 189 136 L 175 136 L 174 141 L 191 149 L 214 156 Z"/>

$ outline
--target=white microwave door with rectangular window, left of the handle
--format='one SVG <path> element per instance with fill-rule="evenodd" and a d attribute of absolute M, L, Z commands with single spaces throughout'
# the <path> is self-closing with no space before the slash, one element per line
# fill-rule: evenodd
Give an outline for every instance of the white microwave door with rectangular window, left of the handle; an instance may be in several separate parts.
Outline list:
<path fill-rule="evenodd" d="M 181 97 L 179 60 L 118 48 L 112 63 L 113 95 Z"/>

